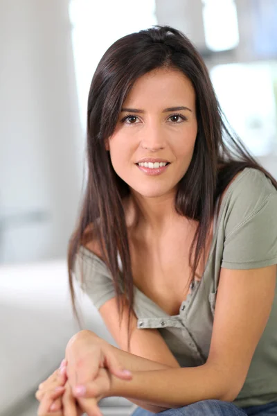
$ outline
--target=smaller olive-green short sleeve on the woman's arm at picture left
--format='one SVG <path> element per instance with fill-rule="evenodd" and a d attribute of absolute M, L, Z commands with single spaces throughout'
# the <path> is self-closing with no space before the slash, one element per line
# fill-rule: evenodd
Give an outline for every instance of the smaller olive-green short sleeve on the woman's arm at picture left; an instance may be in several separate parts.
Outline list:
<path fill-rule="evenodd" d="M 116 296 L 111 273 L 105 263 L 84 247 L 76 255 L 73 275 L 97 309 Z"/>

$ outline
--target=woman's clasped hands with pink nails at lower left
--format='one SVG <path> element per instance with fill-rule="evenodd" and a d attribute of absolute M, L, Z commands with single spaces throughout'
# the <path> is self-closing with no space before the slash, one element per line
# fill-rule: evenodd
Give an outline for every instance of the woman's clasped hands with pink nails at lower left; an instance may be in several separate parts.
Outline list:
<path fill-rule="evenodd" d="M 118 363 L 109 343 L 91 331 L 80 331 L 66 346 L 60 368 L 39 384 L 37 415 L 102 416 L 98 402 L 114 395 L 114 376 L 132 379 L 132 374 Z"/>

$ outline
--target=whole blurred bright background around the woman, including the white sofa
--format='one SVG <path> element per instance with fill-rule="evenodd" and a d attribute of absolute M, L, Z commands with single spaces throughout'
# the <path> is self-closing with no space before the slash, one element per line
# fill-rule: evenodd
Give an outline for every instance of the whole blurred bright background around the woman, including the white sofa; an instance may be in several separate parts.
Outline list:
<path fill-rule="evenodd" d="M 65 259 L 93 72 L 154 24 L 194 42 L 227 119 L 277 177 L 277 0 L 0 0 L 1 416 L 35 415 L 27 397 L 75 331 Z M 105 331 L 89 304 L 87 317 Z"/>

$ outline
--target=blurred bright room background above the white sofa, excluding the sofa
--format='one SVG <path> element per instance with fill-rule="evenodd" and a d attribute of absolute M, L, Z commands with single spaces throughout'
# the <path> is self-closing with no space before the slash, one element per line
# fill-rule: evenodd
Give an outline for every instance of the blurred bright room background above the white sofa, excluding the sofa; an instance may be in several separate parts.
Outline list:
<path fill-rule="evenodd" d="M 277 174 L 276 0 L 0 0 L 0 263 L 66 254 L 93 71 L 153 24 L 195 43 L 231 125 Z"/>

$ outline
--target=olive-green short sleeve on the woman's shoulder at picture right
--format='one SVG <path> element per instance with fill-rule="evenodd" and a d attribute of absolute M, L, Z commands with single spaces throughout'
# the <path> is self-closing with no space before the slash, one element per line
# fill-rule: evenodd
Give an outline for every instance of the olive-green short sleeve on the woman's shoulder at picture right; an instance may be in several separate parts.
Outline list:
<path fill-rule="evenodd" d="M 260 180 L 263 174 L 258 175 Z M 247 180 L 240 184 L 226 214 L 223 268 L 261 268 L 277 263 L 277 191 L 269 187 L 265 176 L 260 182 L 256 177 L 248 186 L 253 188 L 247 189 Z"/>

